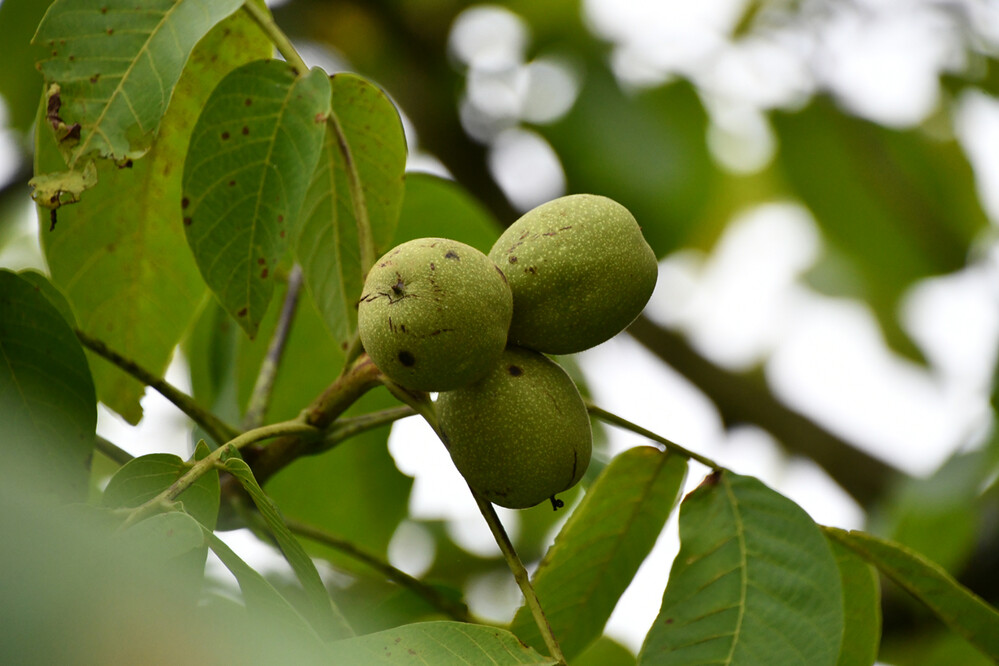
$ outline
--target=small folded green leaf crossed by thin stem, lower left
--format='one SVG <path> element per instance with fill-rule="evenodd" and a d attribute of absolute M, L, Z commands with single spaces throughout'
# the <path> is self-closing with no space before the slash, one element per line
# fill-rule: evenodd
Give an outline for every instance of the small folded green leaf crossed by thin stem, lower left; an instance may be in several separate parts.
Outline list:
<path fill-rule="evenodd" d="M 195 456 L 201 460 L 208 454 L 204 442 L 199 443 Z M 190 465 L 169 453 L 150 453 L 134 458 L 119 469 L 104 490 L 101 503 L 109 508 L 135 508 L 156 497 L 183 476 Z M 215 529 L 219 513 L 219 474 L 212 470 L 201 475 L 194 484 L 177 496 L 184 511 L 208 529 Z"/>

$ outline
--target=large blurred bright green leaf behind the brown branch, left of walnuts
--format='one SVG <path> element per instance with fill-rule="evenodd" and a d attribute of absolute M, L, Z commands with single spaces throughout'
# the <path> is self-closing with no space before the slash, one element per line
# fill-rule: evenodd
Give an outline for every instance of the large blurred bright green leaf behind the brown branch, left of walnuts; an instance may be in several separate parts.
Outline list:
<path fill-rule="evenodd" d="M 241 336 L 238 371 L 242 405 L 249 399 L 266 354 L 267 338 L 280 310 L 276 301 L 261 325 L 259 339 L 251 341 Z M 267 421 L 293 418 L 336 379 L 342 366 L 343 355 L 329 329 L 310 299 L 302 298 L 274 382 Z M 387 391 L 376 389 L 348 414 L 398 404 Z M 267 482 L 267 492 L 289 517 L 321 527 L 384 557 L 396 527 L 408 513 L 412 486 L 412 479 L 399 472 L 389 455 L 388 430 L 379 428 L 322 455 L 295 461 Z M 331 549 L 310 545 L 309 550 L 337 564 L 357 566 Z"/>

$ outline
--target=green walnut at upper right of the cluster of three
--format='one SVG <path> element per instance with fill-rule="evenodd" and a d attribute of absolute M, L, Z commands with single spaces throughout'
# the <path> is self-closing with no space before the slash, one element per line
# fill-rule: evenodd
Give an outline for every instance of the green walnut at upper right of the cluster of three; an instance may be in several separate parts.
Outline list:
<path fill-rule="evenodd" d="M 489 257 L 513 290 L 510 344 L 572 354 L 609 340 L 656 286 L 655 253 L 628 209 L 574 194 L 525 213 Z"/>

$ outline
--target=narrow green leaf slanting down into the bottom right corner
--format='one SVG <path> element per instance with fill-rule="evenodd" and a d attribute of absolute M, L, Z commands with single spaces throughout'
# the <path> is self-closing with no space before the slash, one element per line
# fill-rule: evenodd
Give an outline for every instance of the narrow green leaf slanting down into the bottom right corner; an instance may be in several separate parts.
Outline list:
<path fill-rule="evenodd" d="M 827 527 L 826 534 L 876 566 L 969 643 L 999 660 L 999 612 L 939 565 L 863 532 Z"/>

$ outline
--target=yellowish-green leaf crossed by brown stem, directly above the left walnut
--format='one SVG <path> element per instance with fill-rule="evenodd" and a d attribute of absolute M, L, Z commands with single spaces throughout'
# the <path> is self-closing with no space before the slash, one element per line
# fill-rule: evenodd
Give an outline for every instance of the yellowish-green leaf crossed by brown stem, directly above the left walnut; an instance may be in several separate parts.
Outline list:
<path fill-rule="evenodd" d="M 364 284 L 359 228 L 388 249 L 402 204 L 406 137 L 385 93 L 353 74 L 330 79 L 333 117 L 302 209 L 297 254 L 305 284 L 344 348 Z M 374 261 L 377 257 L 371 257 Z"/>

